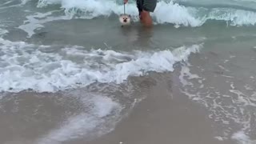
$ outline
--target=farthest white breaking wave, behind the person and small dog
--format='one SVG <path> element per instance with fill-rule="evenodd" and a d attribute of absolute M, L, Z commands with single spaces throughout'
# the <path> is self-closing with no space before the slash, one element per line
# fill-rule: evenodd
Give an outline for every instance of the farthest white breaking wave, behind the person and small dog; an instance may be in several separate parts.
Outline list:
<path fill-rule="evenodd" d="M 58 4 L 65 10 L 70 18 L 95 18 L 98 16 L 110 16 L 110 14 L 122 14 L 122 2 L 103 0 L 39 0 L 38 7 Z M 126 13 L 138 20 L 138 10 L 134 2 L 126 6 Z M 247 26 L 256 24 L 254 11 L 237 10 L 230 8 L 198 8 L 181 6 L 174 2 L 158 2 L 152 14 L 156 23 L 173 23 L 175 26 L 202 26 L 208 20 L 230 22 L 232 26 Z"/>

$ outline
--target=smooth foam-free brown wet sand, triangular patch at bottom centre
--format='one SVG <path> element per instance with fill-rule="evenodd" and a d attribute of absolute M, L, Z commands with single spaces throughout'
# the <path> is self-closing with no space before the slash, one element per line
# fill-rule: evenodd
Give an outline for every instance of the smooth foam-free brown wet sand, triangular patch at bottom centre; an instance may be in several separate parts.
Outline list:
<path fill-rule="evenodd" d="M 173 83 L 175 84 L 175 83 Z M 214 138 L 214 122 L 198 103 L 181 94 L 177 86 L 166 91 L 162 79 L 147 93 L 146 99 L 116 126 L 110 134 L 88 144 L 234 144 Z M 175 88 L 176 87 L 176 88 Z M 85 142 L 74 142 L 82 144 Z"/>

